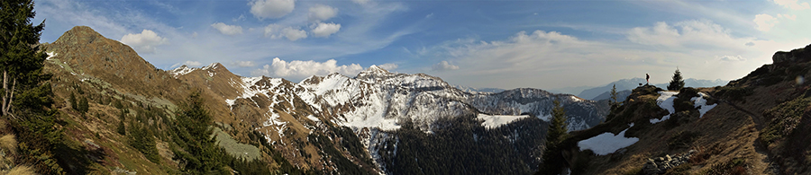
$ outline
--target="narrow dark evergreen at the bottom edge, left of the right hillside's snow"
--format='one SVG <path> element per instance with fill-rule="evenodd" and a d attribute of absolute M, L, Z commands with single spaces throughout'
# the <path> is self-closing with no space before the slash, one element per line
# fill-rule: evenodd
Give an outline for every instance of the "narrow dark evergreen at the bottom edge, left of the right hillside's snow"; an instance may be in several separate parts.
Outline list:
<path fill-rule="evenodd" d="M 549 128 L 546 132 L 546 150 L 543 151 L 543 162 L 537 174 L 559 174 L 565 166 L 563 155 L 560 153 L 560 142 L 569 134 L 569 125 L 566 122 L 566 110 L 560 106 L 560 101 L 554 101 Z"/>

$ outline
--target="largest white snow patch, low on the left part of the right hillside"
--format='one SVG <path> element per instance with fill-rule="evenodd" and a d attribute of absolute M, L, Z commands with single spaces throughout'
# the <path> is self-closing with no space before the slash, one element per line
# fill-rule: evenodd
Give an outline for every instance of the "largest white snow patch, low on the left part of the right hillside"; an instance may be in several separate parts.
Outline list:
<path fill-rule="evenodd" d="M 633 123 L 631 123 L 630 126 L 633 126 Z M 628 147 L 631 144 L 636 144 L 636 142 L 639 141 L 639 138 L 637 137 L 625 137 L 625 131 L 628 131 L 628 129 L 626 128 L 618 135 L 614 135 L 611 132 L 606 132 L 586 140 L 581 140 L 578 142 L 578 146 L 580 147 L 580 151 L 591 150 L 597 155 L 614 153 L 616 150 Z"/>

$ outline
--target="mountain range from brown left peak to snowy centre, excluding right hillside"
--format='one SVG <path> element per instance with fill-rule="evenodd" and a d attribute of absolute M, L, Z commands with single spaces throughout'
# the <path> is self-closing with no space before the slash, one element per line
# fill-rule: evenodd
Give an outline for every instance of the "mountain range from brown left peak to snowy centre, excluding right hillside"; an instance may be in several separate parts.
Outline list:
<path fill-rule="evenodd" d="M 177 145 L 167 132 L 193 92 L 205 100 L 214 138 L 225 152 L 266 162 L 264 167 L 278 173 L 438 174 L 480 164 L 480 173 L 529 174 L 542 160 L 552 101 L 567 110 L 570 130 L 596 126 L 608 112 L 604 102 L 570 94 L 463 91 L 439 77 L 394 74 L 378 66 L 353 77 L 329 74 L 298 83 L 242 77 L 219 63 L 161 70 L 84 26 L 43 46 L 50 55 L 46 71 L 63 104 L 59 111 L 76 123 L 66 127 L 69 137 L 108 152 L 99 170 L 178 171 L 183 162 L 169 151 Z M 88 99 L 89 117 L 67 105 L 73 95 Z M 146 154 L 126 144 L 127 136 L 114 131 L 119 123 L 150 128 L 158 160 L 144 159 Z M 454 152 L 461 145 L 448 143 L 472 147 Z M 434 146 L 426 150 L 426 145 Z M 444 164 L 451 157 L 463 159 Z M 232 170 L 238 172 L 237 166 Z"/>

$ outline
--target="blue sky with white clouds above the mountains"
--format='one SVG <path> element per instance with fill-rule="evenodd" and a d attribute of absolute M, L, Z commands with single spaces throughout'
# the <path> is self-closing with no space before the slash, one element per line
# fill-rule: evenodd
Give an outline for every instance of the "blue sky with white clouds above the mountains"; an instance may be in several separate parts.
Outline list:
<path fill-rule="evenodd" d="M 369 66 L 469 87 L 565 89 L 651 74 L 734 80 L 811 44 L 811 0 L 35 0 L 41 42 L 93 28 L 151 64 L 241 76 Z"/>

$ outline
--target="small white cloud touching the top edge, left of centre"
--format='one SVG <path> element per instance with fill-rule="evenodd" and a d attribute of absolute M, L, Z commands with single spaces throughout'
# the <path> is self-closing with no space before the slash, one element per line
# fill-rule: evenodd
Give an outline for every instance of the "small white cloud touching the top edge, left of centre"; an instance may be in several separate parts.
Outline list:
<path fill-rule="evenodd" d="M 248 4 L 251 5 L 251 13 L 260 20 L 280 18 L 296 8 L 295 0 L 253 0 Z"/>

